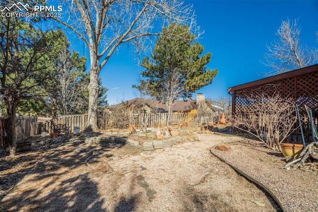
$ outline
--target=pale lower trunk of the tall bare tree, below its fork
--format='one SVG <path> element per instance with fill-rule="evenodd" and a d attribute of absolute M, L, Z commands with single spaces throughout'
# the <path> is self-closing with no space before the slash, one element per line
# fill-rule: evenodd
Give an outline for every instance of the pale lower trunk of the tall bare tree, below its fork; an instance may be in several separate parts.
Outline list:
<path fill-rule="evenodd" d="M 94 57 L 91 56 L 91 60 Z M 98 60 L 91 61 L 90 79 L 88 85 L 89 101 L 88 101 L 88 123 L 86 128 L 91 128 L 93 131 L 98 129 L 97 127 L 97 102 L 98 102 L 98 75 L 100 68 L 98 66 Z"/>

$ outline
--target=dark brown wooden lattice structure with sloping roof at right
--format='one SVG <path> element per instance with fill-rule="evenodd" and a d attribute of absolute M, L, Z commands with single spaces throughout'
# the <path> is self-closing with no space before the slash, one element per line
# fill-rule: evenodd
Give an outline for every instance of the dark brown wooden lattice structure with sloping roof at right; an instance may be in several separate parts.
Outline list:
<path fill-rule="evenodd" d="M 250 107 L 248 99 L 257 95 L 272 96 L 278 93 L 281 97 L 292 97 L 299 106 L 301 113 L 305 113 L 305 106 L 313 111 L 317 127 L 318 118 L 318 64 L 267 77 L 228 89 L 232 95 L 232 113 Z M 309 130 L 309 127 L 307 127 Z M 308 131 L 309 133 L 309 131 Z M 309 137 L 309 136 L 308 136 Z"/>

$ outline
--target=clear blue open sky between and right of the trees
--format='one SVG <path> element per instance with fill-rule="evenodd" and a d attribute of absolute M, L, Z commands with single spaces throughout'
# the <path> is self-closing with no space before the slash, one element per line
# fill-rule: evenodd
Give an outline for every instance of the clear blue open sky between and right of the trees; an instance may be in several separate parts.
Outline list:
<path fill-rule="evenodd" d="M 213 54 L 207 68 L 218 68 L 212 84 L 196 92 L 207 98 L 228 96 L 229 87 L 261 79 L 260 73 L 269 72 L 260 61 L 264 59 L 266 44 L 276 39 L 275 32 L 282 20 L 297 18 L 302 27 L 302 43 L 318 48 L 318 0 L 185 0 L 185 3 L 193 4 L 197 24 L 205 31 L 199 40 L 204 52 Z M 112 55 L 100 72 L 102 85 L 108 88 L 108 103 L 138 97 L 132 85 L 138 83 L 142 71 L 138 58 L 127 47 Z"/>

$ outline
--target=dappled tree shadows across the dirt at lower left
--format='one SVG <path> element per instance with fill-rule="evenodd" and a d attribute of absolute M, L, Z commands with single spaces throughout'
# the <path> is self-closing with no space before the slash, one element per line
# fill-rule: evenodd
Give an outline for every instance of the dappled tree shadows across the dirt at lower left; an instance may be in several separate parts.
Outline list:
<path fill-rule="evenodd" d="M 112 148 L 122 148 L 125 144 L 114 141 L 84 145 L 83 137 L 73 137 L 75 140 L 58 145 L 54 142 L 47 145 L 48 141 L 38 143 L 35 149 L 14 158 L 1 156 L 1 164 L 5 159 L 7 165 L 1 166 L 0 171 L 5 170 L 7 174 L 0 176 L 0 182 L 10 181 L 9 187 L 15 187 L 11 190 L 15 195 L 4 193 L 0 196 L 0 211 L 105 211 L 102 209 L 104 199 L 97 192 L 94 177 L 109 171 L 109 166 L 104 165 L 105 158 L 112 157 Z M 14 167 L 21 163 L 22 167 L 15 171 Z M 94 170 L 91 173 L 91 164 L 97 164 L 96 173 Z M 17 186 L 19 182 L 25 185 Z M 4 187 L 1 183 L 1 191 L 10 189 Z M 133 200 L 126 204 L 132 204 Z M 79 205 L 87 207 L 81 209 Z"/>

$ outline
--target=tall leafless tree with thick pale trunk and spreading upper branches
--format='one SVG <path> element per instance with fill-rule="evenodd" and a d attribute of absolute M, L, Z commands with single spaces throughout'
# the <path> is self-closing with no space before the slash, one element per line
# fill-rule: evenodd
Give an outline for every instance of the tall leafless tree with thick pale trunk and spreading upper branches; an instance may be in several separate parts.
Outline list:
<path fill-rule="evenodd" d="M 98 75 L 122 43 L 145 50 L 159 25 L 175 21 L 195 27 L 192 6 L 179 0 L 68 0 L 61 1 L 69 16 L 56 19 L 71 28 L 88 46 L 90 82 L 88 125 L 97 128 Z M 158 31 L 157 31 L 158 30 Z"/>

